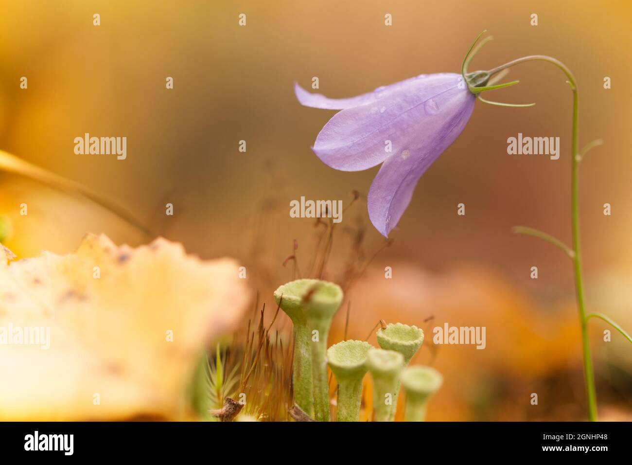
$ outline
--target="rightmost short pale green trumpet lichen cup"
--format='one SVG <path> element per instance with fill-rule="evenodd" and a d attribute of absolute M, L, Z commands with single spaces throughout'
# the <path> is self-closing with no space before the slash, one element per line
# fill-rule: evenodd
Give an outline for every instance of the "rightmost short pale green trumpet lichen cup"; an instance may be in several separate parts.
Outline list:
<path fill-rule="evenodd" d="M 429 366 L 411 366 L 401 374 L 401 384 L 406 393 L 404 421 L 423 421 L 428 399 L 443 384 L 443 376 Z"/>

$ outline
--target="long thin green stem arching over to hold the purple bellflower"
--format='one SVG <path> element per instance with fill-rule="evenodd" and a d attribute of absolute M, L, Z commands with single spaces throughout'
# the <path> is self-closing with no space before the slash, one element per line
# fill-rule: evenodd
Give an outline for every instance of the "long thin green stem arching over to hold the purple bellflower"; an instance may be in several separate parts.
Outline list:
<path fill-rule="evenodd" d="M 584 380 L 586 385 L 586 398 L 588 400 L 588 419 L 590 421 L 597 421 L 597 394 L 595 391 L 595 375 L 593 373 L 592 357 L 590 355 L 590 341 L 588 340 L 588 322 L 586 319 L 586 310 L 584 303 L 584 287 L 581 275 L 581 247 L 580 247 L 580 209 L 579 209 L 579 176 L 578 176 L 578 142 L 579 142 L 579 111 L 578 111 L 578 90 L 575 77 L 571 70 L 569 70 L 564 63 L 558 59 L 552 58 L 546 55 L 529 55 L 517 58 L 504 65 L 496 66 L 489 71 L 489 75 L 492 76 L 495 73 L 499 73 L 506 68 L 518 65 L 519 63 L 525 63 L 526 61 L 548 61 L 557 66 L 566 77 L 568 77 L 568 84 L 573 91 L 573 139 L 571 144 L 571 227 L 573 230 L 573 264 L 575 275 L 575 294 L 577 298 L 577 307 L 580 316 L 580 328 L 581 328 L 581 345 L 583 348 L 583 362 L 584 362 Z"/>

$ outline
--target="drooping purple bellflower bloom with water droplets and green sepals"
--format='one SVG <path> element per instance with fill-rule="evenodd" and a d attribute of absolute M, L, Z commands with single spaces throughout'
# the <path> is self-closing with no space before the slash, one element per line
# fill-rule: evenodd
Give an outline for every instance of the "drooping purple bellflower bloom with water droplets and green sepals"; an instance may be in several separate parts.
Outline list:
<path fill-rule="evenodd" d="M 419 178 L 465 128 L 478 93 L 517 84 L 485 87 L 490 77 L 487 71 L 467 74 L 472 48 L 461 74 L 420 75 L 348 99 L 310 94 L 295 84 L 302 105 L 341 110 L 322 128 L 312 147 L 327 166 L 360 171 L 382 163 L 367 204 L 371 222 L 385 237 L 410 204 Z"/>

